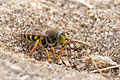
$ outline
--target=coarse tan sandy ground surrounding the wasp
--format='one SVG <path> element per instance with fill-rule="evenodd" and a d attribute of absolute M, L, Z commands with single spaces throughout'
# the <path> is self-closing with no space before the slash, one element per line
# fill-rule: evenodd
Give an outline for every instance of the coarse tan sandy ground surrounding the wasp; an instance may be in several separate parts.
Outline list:
<path fill-rule="evenodd" d="M 0 80 L 120 80 L 120 1 L 88 1 L 0 0 Z M 24 27 L 66 31 L 77 51 L 48 63 L 39 45 L 28 57 L 35 42 L 15 34 Z"/>

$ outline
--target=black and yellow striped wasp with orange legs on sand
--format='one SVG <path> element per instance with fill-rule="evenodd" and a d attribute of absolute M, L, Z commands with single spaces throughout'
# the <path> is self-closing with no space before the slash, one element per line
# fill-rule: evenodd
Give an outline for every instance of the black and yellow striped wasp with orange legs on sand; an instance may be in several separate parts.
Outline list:
<path fill-rule="evenodd" d="M 57 59 L 57 56 L 55 55 L 54 47 L 57 45 L 64 45 L 66 44 L 69 39 L 67 38 L 67 33 L 66 32 L 59 32 L 55 29 L 48 29 L 44 31 L 41 28 L 24 28 L 21 31 L 21 36 L 24 37 L 25 39 L 31 40 L 31 41 L 36 41 L 33 49 L 31 52 L 28 54 L 28 56 L 31 56 L 33 51 L 37 48 L 38 44 L 42 44 L 46 48 L 46 53 L 48 57 L 48 61 L 50 62 L 50 54 L 48 51 L 48 47 L 52 48 L 52 54 L 54 59 Z M 62 48 L 62 51 L 64 48 Z M 61 53 L 62 54 L 62 53 Z"/>

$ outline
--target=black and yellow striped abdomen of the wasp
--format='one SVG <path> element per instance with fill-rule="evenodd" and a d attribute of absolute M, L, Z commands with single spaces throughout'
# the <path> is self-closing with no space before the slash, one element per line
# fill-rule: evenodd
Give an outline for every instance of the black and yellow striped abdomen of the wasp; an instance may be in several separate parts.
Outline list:
<path fill-rule="evenodd" d="M 21 32 L 22 37 L 25 39 L 36 41 L 40 38 L 39 35 L 37 35 L 38 29 L 33 28 L 24 28 L 24 30 Z"/>

